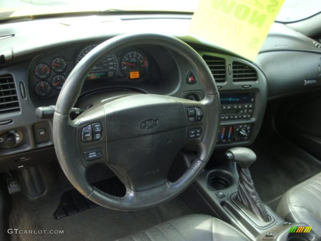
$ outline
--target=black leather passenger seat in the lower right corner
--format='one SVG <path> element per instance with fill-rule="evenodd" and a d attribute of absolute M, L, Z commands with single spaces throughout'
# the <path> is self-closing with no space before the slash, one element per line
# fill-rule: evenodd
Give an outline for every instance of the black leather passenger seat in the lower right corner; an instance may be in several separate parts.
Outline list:
<path fill-rule="evenodd" d="M 306 223 L 321 237 L 321 173 L 292 187 L 276 210 L 284 220 Z"/>

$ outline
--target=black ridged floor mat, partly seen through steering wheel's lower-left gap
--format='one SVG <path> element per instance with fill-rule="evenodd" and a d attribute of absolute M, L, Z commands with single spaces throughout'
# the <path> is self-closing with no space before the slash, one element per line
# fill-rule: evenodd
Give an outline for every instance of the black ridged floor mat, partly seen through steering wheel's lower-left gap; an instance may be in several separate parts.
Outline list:
<path fill-rule="evenodd" d="M 93 183 L 93 185 L 103 192 L 118 197 L 122 197 L 126 193 L 125 186 L 117 177 L 108 178 L 106 180 Z M 96 203 L 82 196 L 80 192 L 72 189 L 62 194 L 58 208 L 54 212 L 54 217 L 55 219 L 61 219 L 97 206 L 98 205 Z"/>

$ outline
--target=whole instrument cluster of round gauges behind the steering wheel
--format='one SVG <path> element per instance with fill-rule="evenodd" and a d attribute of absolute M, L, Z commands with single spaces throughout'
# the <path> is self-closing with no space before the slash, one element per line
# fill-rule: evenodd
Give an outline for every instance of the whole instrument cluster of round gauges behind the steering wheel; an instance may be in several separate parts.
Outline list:
<path fill-rule="evenodd" d="M 98 44 L 82 46 L 72 58 L 63 52 L 46 56 L 32 66 L 33 90 L 41 98 L 49 98 L 59 94 L 72 69 Z M 56 55 L 55 55 L 56 54 Z M 41 61 L 40 61 L 41 60 Z M 142 80 L 148 68 L 146 53 L 140 49 L 126 49 L 120 53 L 106 55 L 87 75 L 87 80 L 121 79 L 130 81 Z M 118 77 L 116 79 L 116 76 Z"/>

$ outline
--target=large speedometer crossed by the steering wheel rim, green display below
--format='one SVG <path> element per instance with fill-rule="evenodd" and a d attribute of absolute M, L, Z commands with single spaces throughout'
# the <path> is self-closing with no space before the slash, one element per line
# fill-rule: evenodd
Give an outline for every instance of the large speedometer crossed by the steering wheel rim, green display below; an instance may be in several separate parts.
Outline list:
<path fill-rule="evenodd" d="M 87 45 L 80 50 L 76 57 L 76 64 L 82 60 L 92 49 L 98 44 Z M 117 70 L 117 60 L 115 54 L 106 55 L 97 65 L 95 65 L 88 73 L 88 79 L 100 79 L 113 77 Z"/>

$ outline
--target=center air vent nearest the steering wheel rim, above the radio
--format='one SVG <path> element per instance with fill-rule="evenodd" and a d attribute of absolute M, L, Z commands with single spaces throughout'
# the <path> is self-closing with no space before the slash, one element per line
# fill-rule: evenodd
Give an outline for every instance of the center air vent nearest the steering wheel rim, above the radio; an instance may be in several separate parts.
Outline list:
<path fill-rule="evenodd" d="M 226 80 L 225 59 L 210 55 L 203 55 L 207 66 L 210 68 L 216 83 L 222 83 Z"/>

